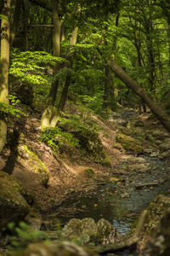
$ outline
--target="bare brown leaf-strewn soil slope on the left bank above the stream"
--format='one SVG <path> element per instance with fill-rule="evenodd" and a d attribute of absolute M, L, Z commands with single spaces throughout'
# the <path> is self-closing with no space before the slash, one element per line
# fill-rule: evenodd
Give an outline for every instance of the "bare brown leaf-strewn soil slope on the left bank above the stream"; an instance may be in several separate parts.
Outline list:
<path fill-rule="evenodd" d="M 10 120 L 8 125 L 9 141 L 0 156 L 0 170 L 13 174 L 23 188 L 34 197 L 34 204 L 42 212 L 48 211 L 55 202 L 64 201 L 70 194 L 72 195 L 73 191 L 88 193 L 98 183 L 107 179 L 111 172 L 118 172 L 114 166 L 121 160 L 122 152 L 112 147 L 115 143 L 116 124 L 110 124 L 110 127 L 101 119 L 92 116 L 92 119 L 101 127 L 99 138 L 111 160 L 111 167 L 106 167 L 90 162 L 83 155 L 80 157 L 77 154 L 77 148 L 74 148 L 72 152 L 65 148 L 62 154 L 54 153 L 47 144 L 41 143 L 39 115 L 30 113 L 28 109 L 25 109 L 25 113 L 26 117 L 17 119 L 17 121 Z M 17 133 L 17 136 L 14 135 L 14 132 Z M 15 140 L 12 145 L 10 145 L 11 135 Z M 18 141 L 16 141 L 16 137 Z M 41 174 L 34 172 L 37 159 L 32 160 L 30 164 L 30 155 L 24 148 L 25 143 L 46 166 L 49 176 L 48 186 L 44 187 Z M 85 176 L 86 168 L 93 168 L 96 179 L 92 180 Z"/>

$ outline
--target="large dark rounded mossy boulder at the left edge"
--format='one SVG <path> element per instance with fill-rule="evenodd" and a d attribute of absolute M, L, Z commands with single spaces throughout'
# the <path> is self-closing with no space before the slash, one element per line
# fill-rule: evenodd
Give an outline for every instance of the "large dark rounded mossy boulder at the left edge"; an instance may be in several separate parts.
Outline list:
<path fill-rule="evenodd" d="M 19 183 L 12 175 L 0 171 L 0 232 L 9 222 L 18 222 L 29 212 L 26 200 L 21 193 Z"/>

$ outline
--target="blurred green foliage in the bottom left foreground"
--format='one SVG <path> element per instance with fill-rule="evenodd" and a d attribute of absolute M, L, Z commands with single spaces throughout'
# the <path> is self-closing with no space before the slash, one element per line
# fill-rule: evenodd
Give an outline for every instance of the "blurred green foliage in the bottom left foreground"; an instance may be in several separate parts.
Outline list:
<path fill-rule="evenodd" d="M 14 223 L 8 224 L 11 235 L 8 236 L 9 251 L 17 251 L 25 248 L 30 242 L 44 241 L 48 239 L 48 234 L 41 230 L 31 230 L 30 226 L 25 222 L 20 222 L 18 226 Z M 17 250 L 17 251 L 16 251 Z"/>

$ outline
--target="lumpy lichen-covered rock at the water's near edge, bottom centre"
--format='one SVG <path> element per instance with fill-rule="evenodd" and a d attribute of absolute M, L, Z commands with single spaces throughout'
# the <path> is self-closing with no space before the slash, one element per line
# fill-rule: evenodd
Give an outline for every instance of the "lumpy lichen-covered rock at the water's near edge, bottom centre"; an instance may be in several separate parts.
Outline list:
<path fill-rule="evenodd" d="M 61 233 L 62 239 L 86 244 L 110 244 L 119 240 L 116 229 L 104 218 L 95 224 L 93 218 L 72 218 Z"/>

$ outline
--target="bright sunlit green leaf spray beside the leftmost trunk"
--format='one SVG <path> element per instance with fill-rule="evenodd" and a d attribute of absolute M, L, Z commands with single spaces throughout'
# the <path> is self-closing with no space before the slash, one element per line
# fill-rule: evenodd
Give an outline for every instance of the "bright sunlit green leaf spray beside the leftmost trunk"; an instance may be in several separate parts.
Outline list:
<path fill-rule="evenodd" d="M 51 76 L 47 67 L 63 63 L 64 58 L 55 57 L 45 51 L 25 51 L 14 49 L 11 55 L 9 75 L 28 84 L 50 84 Z"/>

